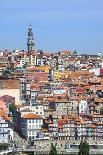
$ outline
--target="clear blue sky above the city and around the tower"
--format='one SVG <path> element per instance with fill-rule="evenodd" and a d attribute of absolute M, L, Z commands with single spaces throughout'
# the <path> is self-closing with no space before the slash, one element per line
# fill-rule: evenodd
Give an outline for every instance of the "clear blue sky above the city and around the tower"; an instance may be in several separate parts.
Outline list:
<path fill-rule="evenodd" d="M 0 0 L 0 50 L 103 52 L 103 0 Z"/>

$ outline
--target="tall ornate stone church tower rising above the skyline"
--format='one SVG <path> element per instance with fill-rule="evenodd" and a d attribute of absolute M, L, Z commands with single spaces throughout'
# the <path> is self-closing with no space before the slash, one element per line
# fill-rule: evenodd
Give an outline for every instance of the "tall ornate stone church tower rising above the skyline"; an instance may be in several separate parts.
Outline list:
<path fill-rule="evenodd" d="M 27 48 L 28 48 L 28 52 L 34 52 L 34 37 L 33 37 L 33 32 L 32 32 L 32 26 L 29 26 L 28 29 L 28 38 L 27 38 Z"/>

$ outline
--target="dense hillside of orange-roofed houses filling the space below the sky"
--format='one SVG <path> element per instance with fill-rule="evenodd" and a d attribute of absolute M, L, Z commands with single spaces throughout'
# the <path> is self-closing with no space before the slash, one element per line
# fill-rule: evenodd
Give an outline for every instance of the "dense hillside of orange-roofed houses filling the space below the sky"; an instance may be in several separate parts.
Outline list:
<path fill-rule="evenodd" d="M 12 124 L 28 142 L 102 141 L 101 54 L 34 52 L 33 45 L 29 38 L 28 52 L 0 52 L 0 137 L 13 140 Z"/>

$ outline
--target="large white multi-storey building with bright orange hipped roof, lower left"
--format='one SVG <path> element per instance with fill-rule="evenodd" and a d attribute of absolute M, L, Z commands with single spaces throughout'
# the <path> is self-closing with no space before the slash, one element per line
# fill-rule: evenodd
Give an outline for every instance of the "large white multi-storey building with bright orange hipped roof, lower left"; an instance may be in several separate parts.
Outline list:
<path fill-rule="evenodd" d="M 37 140 L 38 133 L 43 125 L 43 118 L 39 115 L 29 113 L 21 117 L 21 133 L 28 141 Z"/>

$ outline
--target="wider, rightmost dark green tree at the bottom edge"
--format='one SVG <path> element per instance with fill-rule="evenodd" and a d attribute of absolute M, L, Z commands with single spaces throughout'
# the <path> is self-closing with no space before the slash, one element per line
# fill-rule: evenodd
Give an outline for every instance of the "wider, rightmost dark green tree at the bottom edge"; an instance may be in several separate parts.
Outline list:
<path fill-rule="evenodd" d="M 78 155 L 89 155 L 89 144 L 86 141 L 80 142 Z"/>

